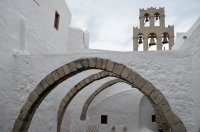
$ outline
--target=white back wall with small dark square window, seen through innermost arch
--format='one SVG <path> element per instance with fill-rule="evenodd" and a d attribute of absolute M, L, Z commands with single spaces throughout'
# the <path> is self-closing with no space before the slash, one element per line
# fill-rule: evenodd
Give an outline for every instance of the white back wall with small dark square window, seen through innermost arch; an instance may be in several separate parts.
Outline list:
<path fill-rule="evenodd" d="M 131 87 L 129 90 L 123 90 L 126 87 L 130 86 L 118 85 L 112 87 L 112 89 L 120 89 L 121 92 L 118 91 L 118 93 L 110 95 L 100 103 L 95 100 L 101 100 L 101 97 L 96 97 L 88 110 L 86 126 L 97 124 L 99 132 L 112 131 L 113 126 L 115 127 L 115 132 L 124 131 L 124 127 L 127 128 L 127 132 L 138 132 L 139 103 L 142 94 L 136 89 L 130 90 Z M 105 90 L 98 96 L 109 94 L 108 92 L 110 91 Z M 108 124 L 101 124 L 101 115 L 108 115 Z"/>

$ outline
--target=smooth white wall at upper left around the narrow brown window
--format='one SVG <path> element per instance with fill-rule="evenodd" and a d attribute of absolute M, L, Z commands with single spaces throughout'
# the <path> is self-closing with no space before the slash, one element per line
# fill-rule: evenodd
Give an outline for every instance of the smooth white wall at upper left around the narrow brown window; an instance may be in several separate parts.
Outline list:
<path fill-rule="evenodd" d="M 58 30 L 54 28 L 55 11 L 60 15 Z M 83 31 L 70 27 L 71 13 L 65 0 L 0 1 L 0 12 L 1 47 L 9 52 L 63 54 L 85 48 L 79 36 Z"/>

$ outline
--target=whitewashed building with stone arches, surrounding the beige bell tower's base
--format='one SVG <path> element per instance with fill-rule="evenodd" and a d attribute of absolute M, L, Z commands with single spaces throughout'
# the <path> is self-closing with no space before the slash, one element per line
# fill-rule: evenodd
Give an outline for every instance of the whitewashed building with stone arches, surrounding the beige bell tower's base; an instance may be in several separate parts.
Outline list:
<path fill-rule="evenodd" d="M 101 70 L 91 68 L 84 71 L 86 69 L 83 68 L 83 72 L 77 69 L 87 66 L 83 65 L 84 63 L 76 63 L 74 71 L 72 71 L 73 66 L 69 68 L 70 76 L 73 74 L 69 79 L 67 79 L 67 70 L 64 69 L 65 72 L 60 72 L 60 70 L 68 66 L 65 64 L 74 60 L 94 57 L 97 62 L 101 60 L 98 58 L 103 58 L 123 64 L 142 79 L 133 81 L 133 84 L 134 82 L 139 84 L 133 85 L 126 81 L 126 83 L 120 82 L 103 90 L 91 102 L 86 120 L 82 121 L 80 120 L 81 111 L 87 98 L 102 84 L 117 76 L 97 79 L 94 83 L 87 85 L 68 105 L 63 116 L 61 131 L 138 132 L 144 129 L 158 131 L 159 123 L 157 122 L 159 121 L 156 120 L 155 111 L 151 107 L 152 102 L 149 103 L 144 98 L 147 92 L 144 90 L 146 84 L 141 86 L 140 91 L 138 90 L 144 80 L 148 80 L 155 86 L 154 90 L 160 92 L 158 96 L 162 95 L 169 103 L 170 109 L 168 107 L 166 109 L 173 111 L 176 115 L 166 116 L 169 112 L 161 110 L 166 112 L 163 114 L 166 117 L 162 119 L 167 118 L 167 125 L 171 124 L 173 127 L 168 131 L 185 131 L 181 125 L 188 132 L 199 131 L 199 20 L 187 33 L 184 33 L 186 37 L 177 35 L 179 37 L 175 40 L 174 50 L 114 52 L 88 49 L 89 35 L 81 29 L 70 26 L 71 13 L 64 0 L 0 1 L 0 17 L 1 132 L 57 131 L 60 113 L 58 110 L 62 106 L 60 102 L 63 97 L 81 80 L 101 71 L 103 62 L 100 66 Z M 72 64 L 74 63 L 70 63 L 69 66 Z M 116 65 L 116 63 L 113 64 Z M 108 64 L 106 61 L 105 70 L 108 70 L 110 65 L 112 63 Z M 75 74 L 76 70 L 80 73 Z M 111 72 L 118 71 L 111 70 Z M 53 77 L 51 85 L 46 80 L 49 77 L 47 75 Z M 131 74 L 128 74 L 128 77 L 131 78 Z M 121 79 L 124 79 L 122 75 Z M 46 83 L 44 83 L 45 80 Z M 42 84 L 40 91 L 38 84 Z M 48 85 L 47 89 L 43 84 Z M 76 91 L 71 91 L 70 94 Z M 153 94 L 145 95 L 152 99 Z M 158 100 L 160 99 L 157 98 L 156 101 Z M 41 104 L 38 103 L 40 101 Z M 33 105 L 36 109 L 31 109 Z M 159 103 L 155 105 L 155 108 L 160 108 L 159 105 Z M 33 118 L 30 113 L 34 114 Z M 161 122 L 163 126 L 164 121 Z"/>

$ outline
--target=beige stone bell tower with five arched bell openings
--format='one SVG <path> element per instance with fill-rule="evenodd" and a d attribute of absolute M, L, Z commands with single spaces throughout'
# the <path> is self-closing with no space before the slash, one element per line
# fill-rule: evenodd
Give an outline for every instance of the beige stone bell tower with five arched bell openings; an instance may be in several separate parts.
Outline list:
<path fill-rule="evenodd" d="M 140 9 L 140 27 L 133 27 L 133 50 L 171 50 L 174 45 L 174 25 L 165 27 L 163 8 Z"/>

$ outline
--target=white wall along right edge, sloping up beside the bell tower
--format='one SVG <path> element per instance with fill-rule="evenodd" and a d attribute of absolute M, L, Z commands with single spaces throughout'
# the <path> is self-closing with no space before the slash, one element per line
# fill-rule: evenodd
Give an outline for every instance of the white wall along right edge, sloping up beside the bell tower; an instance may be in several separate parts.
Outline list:
<path fill-rule="evenodd" d="M 194 100 L 194 119 L 195 127 L 194 131 L 200 129 L 200 18 L 192 25 L 192 27 L 185 33 L 187 39 L 184 41 L 180 50 L 184 52 L 190 52 L 192 55 L 192 90 L 193 90 L 193 100 Z"/>

